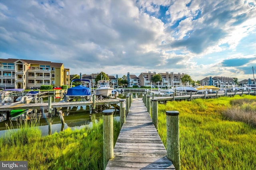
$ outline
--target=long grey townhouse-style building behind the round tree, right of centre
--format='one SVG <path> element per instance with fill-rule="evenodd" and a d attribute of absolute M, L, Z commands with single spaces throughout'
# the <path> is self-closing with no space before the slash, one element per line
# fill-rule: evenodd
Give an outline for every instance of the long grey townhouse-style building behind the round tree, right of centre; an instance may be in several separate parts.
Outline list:
<path fill-rule="evenodd" d="M 184 73 L 174 74 L 174 72 L 165 72 L 165 73 L 158 73 L 162 77 L 162 82 L 160 82 L 160 87 L 172 87 L 172 86 L 181 86 L 181 78 L 185 75 Z M 151 78 L 156 75 L 156 72 L 151 73 L 149 72 L 142 72 L 138 76 L 140 79 L 141 86 L 151 86 Z"/>

